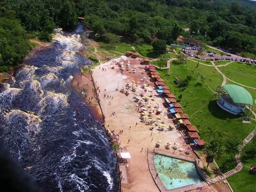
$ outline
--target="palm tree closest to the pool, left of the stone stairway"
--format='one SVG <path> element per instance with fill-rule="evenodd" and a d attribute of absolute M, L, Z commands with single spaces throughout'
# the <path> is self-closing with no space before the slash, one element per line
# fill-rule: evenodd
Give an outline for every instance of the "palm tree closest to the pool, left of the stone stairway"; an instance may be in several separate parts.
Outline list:
<path fill-rule="evenodd" d="M 204 147 L 204 153 L 207 155 L 207 167 L 210 163 L 213 162 L 214 157 L 220 157 L 220 154 L 222 154 L 222 152 L 223 149 L 220 140 L 210 140 L 210 142 L 206 142 L 206 145 Z"/>

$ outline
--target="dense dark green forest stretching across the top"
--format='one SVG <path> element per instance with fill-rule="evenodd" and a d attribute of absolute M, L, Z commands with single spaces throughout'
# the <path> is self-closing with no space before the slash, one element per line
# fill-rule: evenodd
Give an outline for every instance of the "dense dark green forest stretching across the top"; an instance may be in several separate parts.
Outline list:
<path fill-rule="evenodd" d="M 5 0 L 0 65 L 22 62 L 28 33 L 49 41 L 55 27 L 74 29 L 78 16 L 107 42 L 150 43 L 157 36 L 169 44 L 182 35 L 232 52 L 256 47 L 256 2 L 249 0 Z"/>

